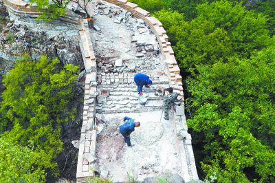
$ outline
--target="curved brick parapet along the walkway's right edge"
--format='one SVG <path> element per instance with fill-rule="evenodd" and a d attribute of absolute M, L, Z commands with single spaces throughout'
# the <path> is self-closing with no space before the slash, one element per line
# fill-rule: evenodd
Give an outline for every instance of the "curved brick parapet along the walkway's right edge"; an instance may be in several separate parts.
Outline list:
<path fill-rule="evenodd" d="M 109 3 L 113 3 L 116 6 L 120 6 L 125 10 L 128 10 L 133 14 L 133 16 L 142 19 L 147 25 L 153 30 L 157 41 L 159 42 L 160 50 L 164 56 L 164 63 L 166 69 L 168 69 L 168 78 L 170 87 L 180 92 L 181 96 L 184 96 L 184 89 L 182 87 L 182 77 L 180 75 L 180 69 L 177 65 L 177 61 L 174 56 L 173 49 L 170 42 L 168 41 L 168 36 L 166 31 L 162 27 L 162 23 L 151 17 L 150 13 L 142 8 L 139 8 L 135 3 L 127 2 L 126 0 L 106 0 Z M 181 101 L 181 107 L 177 109 L 179 112 L 175 115 L 174 122 L 176 125 L 176 133 L 182 140 L 177 141 L 177 148 L 180 151 L 181 160 L 181 175 L 184 177 L 185 182 L 192 180 L 199 180 L 197 175 L 197 169 L 195 164 L 194 153 L 192 150 L 192 138 L 188 134 L 186 117 L 184 115 L 184 99 Z"/>

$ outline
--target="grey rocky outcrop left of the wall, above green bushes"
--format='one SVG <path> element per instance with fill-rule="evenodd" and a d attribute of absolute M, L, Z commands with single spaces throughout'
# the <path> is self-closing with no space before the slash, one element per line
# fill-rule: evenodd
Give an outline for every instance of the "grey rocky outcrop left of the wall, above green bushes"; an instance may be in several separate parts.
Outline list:
<path fill-rule="evenodd" d="M 36 60 L 39 55 L 58 57 L 64 64 L 72 63 L 84 68 L 78 41 L 67 39 L 65 34 L 48 36 L 47 32 L 34 32 L 26 25 L 9 22 L 0 35 L 0 52 L 7 56 L 22 56 L 29 53 Z"/>

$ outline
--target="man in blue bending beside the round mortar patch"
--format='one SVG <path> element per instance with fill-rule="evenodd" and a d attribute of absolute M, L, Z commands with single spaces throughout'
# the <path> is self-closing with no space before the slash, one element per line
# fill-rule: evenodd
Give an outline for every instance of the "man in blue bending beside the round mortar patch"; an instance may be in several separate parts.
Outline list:
<path fill-rule="evenodd" d="M 124 142 L 127 143 L 129 147 L 132 147 L 130 134 L 135 131 L 135 127 L 140 127 L 140 122 L 135 122 L 132 118 L 127 116 L 124 117 L 124 123 L 120 125 L 120 133 L 124 136 Z"/>

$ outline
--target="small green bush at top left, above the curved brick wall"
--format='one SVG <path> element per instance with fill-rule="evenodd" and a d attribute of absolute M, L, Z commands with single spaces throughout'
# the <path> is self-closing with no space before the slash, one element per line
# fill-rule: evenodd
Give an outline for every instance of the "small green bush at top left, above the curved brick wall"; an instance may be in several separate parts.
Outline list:
<path fill-rule="evenodd" d="M 38 10 L 43 12 L 39 15 L 38 20 L 52 21 L 57 17 L 62 17 L 66 13 L 66 6 L 70 0 L 30 0 L 31 3 L 35 3 Z"/>

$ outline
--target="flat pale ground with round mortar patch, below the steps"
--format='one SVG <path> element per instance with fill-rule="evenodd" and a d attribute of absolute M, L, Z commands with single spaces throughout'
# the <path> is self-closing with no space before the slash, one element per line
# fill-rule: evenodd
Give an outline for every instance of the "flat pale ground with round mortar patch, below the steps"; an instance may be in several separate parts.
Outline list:
<path fill-rule="evenodd" d="M 97 143 L 100 171 L 109 171 L 108 177 L 113 182 L 129 181 L 129 176 L 143 181 L 147 177 L 180 175 L 173 123 L 159 121 L 161 113 L 105 114 L 107 122 L 99 124 L 104 129 L 98 135 Z M 124 116 L 141 122 L 141 126 L 131 133 L 133 147 L 126 146 L 117 129 Z"/>

